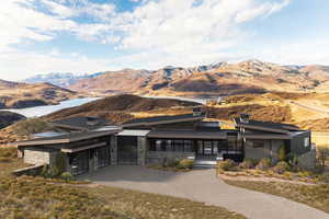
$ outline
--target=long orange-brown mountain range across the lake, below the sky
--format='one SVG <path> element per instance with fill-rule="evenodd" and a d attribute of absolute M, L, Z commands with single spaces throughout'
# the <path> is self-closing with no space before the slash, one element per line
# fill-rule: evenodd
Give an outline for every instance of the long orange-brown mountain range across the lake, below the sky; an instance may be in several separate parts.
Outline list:
<path fill-rule="evenodd" d="M 109 71 L 69 87 L 98 94 L 218 96 L 268 91 L 327 92 L 329 67 L 280 66 L 259 60 L 218 62 L 192 68 Z"/>

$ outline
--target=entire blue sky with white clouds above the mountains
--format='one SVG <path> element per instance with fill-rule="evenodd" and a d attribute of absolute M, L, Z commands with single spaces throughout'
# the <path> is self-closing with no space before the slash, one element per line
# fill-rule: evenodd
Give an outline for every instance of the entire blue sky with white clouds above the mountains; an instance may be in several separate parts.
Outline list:
<path fill-rule="evenodd" d="M 261 59 L 329 65 L 328 0 L 2 0 L 0 78 Z"/>

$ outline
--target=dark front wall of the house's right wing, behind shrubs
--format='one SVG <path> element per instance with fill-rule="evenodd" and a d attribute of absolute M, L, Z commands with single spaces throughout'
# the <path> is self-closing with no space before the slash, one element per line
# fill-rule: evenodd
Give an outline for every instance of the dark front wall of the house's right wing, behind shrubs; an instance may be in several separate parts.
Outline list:
<path fill-rule="evenodd" d="M 247 139 L 245 142 L 245 158 L 262 159 L 270 158 L 272 160 L 277 160 L 279 151 L 282 146 L 284 146 L 284 140 L 263 140 L 263 148 L 253 148 L 250 143 L 252 139 Z"/>

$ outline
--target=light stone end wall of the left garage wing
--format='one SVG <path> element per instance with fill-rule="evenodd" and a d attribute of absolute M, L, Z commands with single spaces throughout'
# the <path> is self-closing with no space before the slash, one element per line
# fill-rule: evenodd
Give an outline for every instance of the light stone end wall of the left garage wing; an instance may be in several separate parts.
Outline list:
<path fill-rule="evenodd" d="M 25 149 L 24 150 L 24 163 L 29 164 L 56 164 L 56 155 L 58 152 L 56 151 L 45 151 L 37 149 Z"/>

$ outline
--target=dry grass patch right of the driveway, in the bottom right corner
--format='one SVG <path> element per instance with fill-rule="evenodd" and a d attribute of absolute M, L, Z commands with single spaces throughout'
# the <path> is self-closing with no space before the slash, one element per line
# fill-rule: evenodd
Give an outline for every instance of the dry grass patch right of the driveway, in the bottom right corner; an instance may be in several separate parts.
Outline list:
<path fill-rule="evenodd" d="M 329 214 L 329 185 L 298 185 L 279 182 L 225 181 L 229 185 L 282 196 Z"/>

